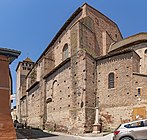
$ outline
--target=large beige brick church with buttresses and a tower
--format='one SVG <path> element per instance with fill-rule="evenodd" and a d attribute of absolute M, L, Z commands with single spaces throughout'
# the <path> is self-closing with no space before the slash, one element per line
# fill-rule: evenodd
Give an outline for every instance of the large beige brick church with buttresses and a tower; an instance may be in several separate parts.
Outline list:
<path fill-rule="evenodd" d="M 23 63 L 16 69 L 17 116 L 32 127 L 91 132 L 95 107 L 104 128 L 146 117 L 147 33 L 123 39 L 116 23 L 88 4 L 35 63 L 25 60 L 31 70 Z"/>

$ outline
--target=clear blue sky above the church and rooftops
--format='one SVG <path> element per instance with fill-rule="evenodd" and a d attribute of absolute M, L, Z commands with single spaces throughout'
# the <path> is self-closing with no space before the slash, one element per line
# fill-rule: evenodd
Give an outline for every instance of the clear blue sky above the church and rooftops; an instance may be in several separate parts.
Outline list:
<path fill-rule="evenodd" d="M 18 62 L 26 57 L 36 61 L 85 2 L 115 21 L 123 37 L 147 32 L 147 0 L 0 0 L 0 47 L 22 52 L 10 66 L 14 92 Z"/>

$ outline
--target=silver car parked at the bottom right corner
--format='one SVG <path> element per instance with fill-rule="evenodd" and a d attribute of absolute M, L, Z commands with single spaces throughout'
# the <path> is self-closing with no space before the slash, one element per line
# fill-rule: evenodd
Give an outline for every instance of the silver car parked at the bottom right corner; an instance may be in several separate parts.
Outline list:
<path fill-rule="evenodd" d="M 113 140 L 147 140 L 147 119 L 121 124 Z"/>

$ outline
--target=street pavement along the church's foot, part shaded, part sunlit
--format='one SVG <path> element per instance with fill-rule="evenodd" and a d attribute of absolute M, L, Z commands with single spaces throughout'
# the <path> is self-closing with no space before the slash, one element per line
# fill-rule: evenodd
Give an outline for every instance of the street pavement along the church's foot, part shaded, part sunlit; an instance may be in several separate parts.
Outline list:
<path fill-rule="evenodd" d="M 112 140 L 113 134 L 85 134 L 81 136 L 68 135 L 58 132 L 44 132 L 41 130 L 17 130 L 17 140 Z"/>

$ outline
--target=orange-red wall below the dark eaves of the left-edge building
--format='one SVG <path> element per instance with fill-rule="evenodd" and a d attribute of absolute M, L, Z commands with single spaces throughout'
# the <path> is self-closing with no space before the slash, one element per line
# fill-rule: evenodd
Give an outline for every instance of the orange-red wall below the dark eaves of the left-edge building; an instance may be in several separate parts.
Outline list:
<path fill-rule="evenodd" d="M 16 139 L 16 132 L 10 114 L 9 59 L 0 55 L 0 139 Z"/>

